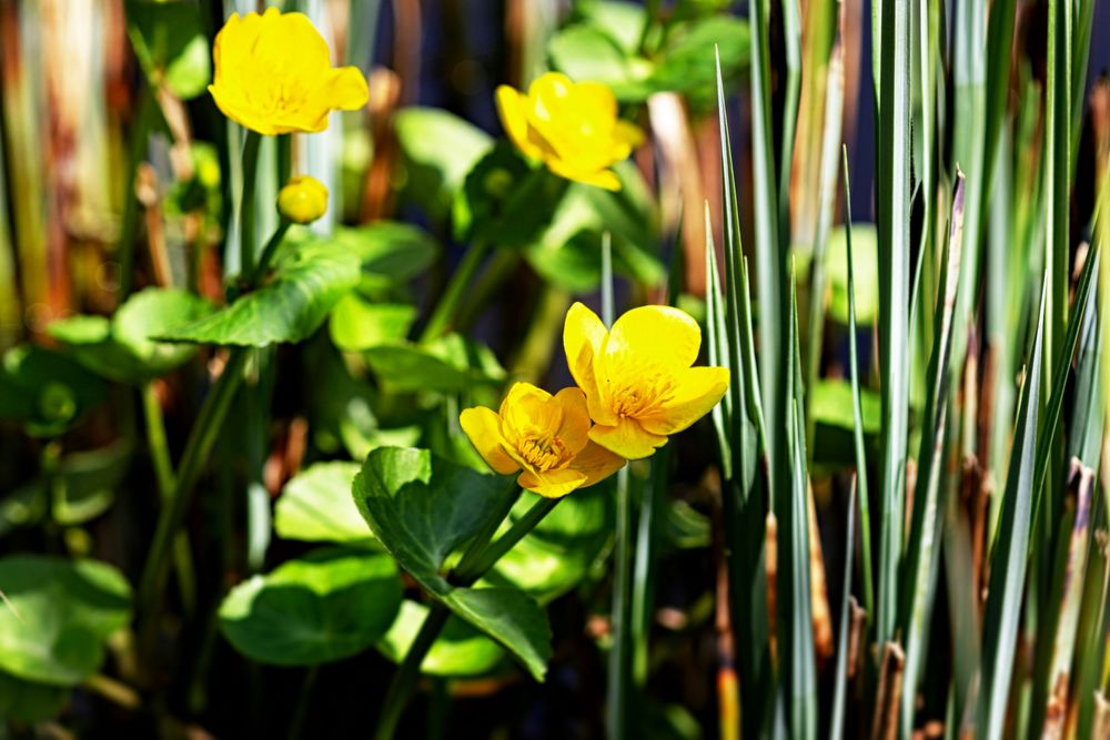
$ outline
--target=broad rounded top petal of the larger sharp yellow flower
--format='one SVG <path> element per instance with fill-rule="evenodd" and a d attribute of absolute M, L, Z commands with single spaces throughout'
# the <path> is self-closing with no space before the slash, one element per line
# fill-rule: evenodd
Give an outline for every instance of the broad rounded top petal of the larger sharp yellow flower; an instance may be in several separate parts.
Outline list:
<path fill-rule="evenodd" d="M 702 330 L 670 306 L 640 306 L 613 323 L 605 347 L 606 363 L 622 373 L 687 368 L 697 359 Z"/>

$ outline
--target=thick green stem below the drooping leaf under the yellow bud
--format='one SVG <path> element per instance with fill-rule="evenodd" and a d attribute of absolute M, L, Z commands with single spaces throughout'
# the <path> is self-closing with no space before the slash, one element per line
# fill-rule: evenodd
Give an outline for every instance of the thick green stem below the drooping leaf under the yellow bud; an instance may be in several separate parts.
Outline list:
<path fill-rule="evenodd" d="M 245 347 L 235 347 L 231 351 L 223 373 L 204 401 L 196 423 L 189 434 L 185 452 L 181 457 L 178 480 L 173 486 L 169 505 L 163 506 L 159 515 L 158 527 L 154 529 L 154 540 L 150 555 L 147 557 L 142 578 L 139 581 L 138 607 L 139 611 L 147 618 L 153 616 L 153 608 L 162 591 L 165 558 L 169 555 L 174 535 L 181 527 L 181 520 L 185 516 L 189 495 L 193 486 L 196 485 L 201 468 L 208 459 L 209 453 L 212 452 L 212 445 L 215 444 L 223 426 L 223 418 L 226 416 L 235 391 L 243 379 L 243 368 L 246 365 L 248 356 L 249 351 Z"/>

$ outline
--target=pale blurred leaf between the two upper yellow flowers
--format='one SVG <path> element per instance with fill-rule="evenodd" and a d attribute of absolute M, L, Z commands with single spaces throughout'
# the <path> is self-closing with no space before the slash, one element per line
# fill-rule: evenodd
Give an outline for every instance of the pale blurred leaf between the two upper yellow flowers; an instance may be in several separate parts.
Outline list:
<path fill-rule="evenodd" d="M 405 193 L 436 219 L 451 210 L 463 179 L 493 146 L 477 126 L 436 108 L 406 108 L 394 119 L 407 164 Z"/>

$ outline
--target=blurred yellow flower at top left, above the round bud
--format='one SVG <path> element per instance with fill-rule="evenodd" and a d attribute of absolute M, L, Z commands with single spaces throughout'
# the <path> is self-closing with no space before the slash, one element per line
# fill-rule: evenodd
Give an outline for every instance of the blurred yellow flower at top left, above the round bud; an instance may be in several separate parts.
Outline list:
<path fill-rule="evenodd" d="M 209 92 L 223 114 L 264 135 L 327 128 L 327 114 L 366 104 L 366 79 L 333 68 L 327 42 L 302 13 L 232 13 L 212 50 Z"/>

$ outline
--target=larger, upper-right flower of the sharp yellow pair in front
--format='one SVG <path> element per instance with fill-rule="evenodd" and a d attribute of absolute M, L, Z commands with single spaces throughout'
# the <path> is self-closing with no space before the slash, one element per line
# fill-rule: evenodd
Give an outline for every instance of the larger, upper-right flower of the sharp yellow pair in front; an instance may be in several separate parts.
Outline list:
<path fill-rule="evenodd" d="M 589 438 L 639 459 L 709 413 L 728 388 L 728 371 L 690 367 L 700 345 L 697 322 L 677 308 L 633 308 L 608 332 L 593 311 L 571 306 L 563 347 L 595 423 Z"/>

